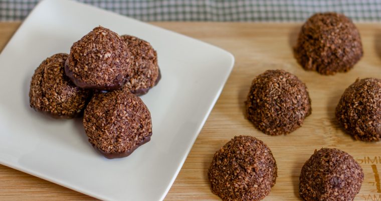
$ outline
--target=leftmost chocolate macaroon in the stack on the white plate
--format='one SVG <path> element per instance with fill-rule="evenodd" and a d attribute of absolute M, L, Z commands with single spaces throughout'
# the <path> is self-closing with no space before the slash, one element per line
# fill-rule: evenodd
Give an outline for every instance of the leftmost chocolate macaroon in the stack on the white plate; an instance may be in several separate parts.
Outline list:
<path fill-rule="evenodd" d="M 54 118 L 74 118 L 86 105 L 89 91 L 73 84 L 65 75 L 68 54 L 59 53 L 45 59 L 32 76 L 29 101 L 36 111 Z"/>

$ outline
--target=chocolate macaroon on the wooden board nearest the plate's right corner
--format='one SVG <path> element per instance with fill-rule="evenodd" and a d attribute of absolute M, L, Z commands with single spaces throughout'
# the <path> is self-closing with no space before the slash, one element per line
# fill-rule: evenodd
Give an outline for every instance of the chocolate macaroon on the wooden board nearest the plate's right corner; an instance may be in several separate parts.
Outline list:
<path fill-rule="evenodd" d="M 288 134 L 310 114 L 307 87 L 295 75 L 284 70 L 267 70 L 253 80 L 246 115 L 265 134 Z"/>

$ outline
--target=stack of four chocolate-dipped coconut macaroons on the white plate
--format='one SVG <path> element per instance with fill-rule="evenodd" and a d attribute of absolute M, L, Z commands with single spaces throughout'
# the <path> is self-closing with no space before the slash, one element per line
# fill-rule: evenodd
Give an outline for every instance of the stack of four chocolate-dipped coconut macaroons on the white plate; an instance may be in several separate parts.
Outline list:
<path fill-rule="evenodd" d="M 96 27 L 35 70 L 30 105 L 55 118 L 83 113 L 89 142 L 107 158 L 131 154 L 152 135 L 142 95 L 160 79 L 157 54 L 134 36 Z"/>

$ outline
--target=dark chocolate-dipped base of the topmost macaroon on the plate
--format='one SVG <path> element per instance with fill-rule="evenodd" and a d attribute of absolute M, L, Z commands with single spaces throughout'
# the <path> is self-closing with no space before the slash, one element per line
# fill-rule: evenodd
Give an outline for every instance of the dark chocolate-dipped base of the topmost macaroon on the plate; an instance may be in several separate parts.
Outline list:
<path fill-rule="evenodd" d="M 70 71 L 69 65 L 68 65 L 68 60 L 65 62 L 65 73 L 66 75 L 70 78 L 70 80 L 77 85 L 80 88 L 87 88 L 87 89 L 98 89 L 98 90 L 105 90 L 105 91 L 112 91 L 121 88 L 129 79 L 129 77 L 123 77 L 121 74 L 117 76 L 117 82 L 112 85 L 93 85 L 93 84 L 88 84 L 84 81 L 78 80 L 74 77 L 73 72 Z"/>

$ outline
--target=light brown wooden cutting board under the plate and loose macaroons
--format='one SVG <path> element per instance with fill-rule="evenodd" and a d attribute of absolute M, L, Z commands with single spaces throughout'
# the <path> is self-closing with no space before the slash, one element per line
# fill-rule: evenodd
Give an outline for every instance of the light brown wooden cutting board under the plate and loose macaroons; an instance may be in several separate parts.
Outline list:
<path fill-rule="evenodd" d="M 272 150 L 278 178 L 264 200 L 301 200 L 299 174 L 315 149 L 338 148 L 351 154 L 364 170 L 364 182 L 355 200 L 381 201 L 381 142 L 354 141 L 338 126 L 334 110 L 344 91 L 357 77 L 381 78 L 381 24 L 357 24 L 363 58 L 347 73 L 333 76 L 304 71 L 292 46 L 300 24 L 152 23 L 200 39 L 234 54 L 235 67 L 165 200 L 219 200 L 211 192 L 207 171 L 213 154 L 235 135 L 252 135 Z M 0 23 L 0 46 L 18 23 Z M 0 64 L 1 65 L 1 64 Z M 268 136 L 244 118 L 250 83 L 267 69 L 285 69 L 304 81 L 312 99 L 312 115 L 287 136 Z M 379 173 L 378 173 L 379 172 Z M 0 166 L 0 200 L 94 199 L 17 170 Z"/>

